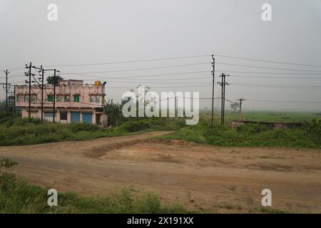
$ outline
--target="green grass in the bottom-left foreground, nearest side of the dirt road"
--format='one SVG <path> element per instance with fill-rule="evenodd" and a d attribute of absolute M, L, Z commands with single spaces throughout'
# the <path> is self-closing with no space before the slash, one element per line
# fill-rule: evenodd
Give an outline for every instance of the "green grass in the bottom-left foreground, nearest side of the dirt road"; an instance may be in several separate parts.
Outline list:
<path fill-rule="evenodd" d="M 124 188 L 105 197 L 80 197 L 73 192 L 58 192 L 58 206 L 47 204 L 47 189 L 29 185 L 13 174 L 0 174 L 0 213 L 188 213 L 180 204 L 161 205 L 153 193 L 135 195 Z"/>

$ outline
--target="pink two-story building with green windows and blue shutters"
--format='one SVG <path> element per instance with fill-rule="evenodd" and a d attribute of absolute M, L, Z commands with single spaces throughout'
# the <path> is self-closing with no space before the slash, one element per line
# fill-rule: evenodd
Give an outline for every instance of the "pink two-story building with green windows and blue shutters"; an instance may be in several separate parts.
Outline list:
<path fill-rule="evenodd" d="M 29 117 L 29 86 L 15 86 L 16 106 L 22 108 L 22 117 Z M 61 80 L 56 86 L 44 86 L 44 120 L 56 123 L 92 123 L 107 126 L 103 112 L 105 83 L 94 85 L 81 80 Z M 54 113 L 55 99 L 55 113 Z M 31 86 L 31 117 L 41 119 L 41 86 Z"/>

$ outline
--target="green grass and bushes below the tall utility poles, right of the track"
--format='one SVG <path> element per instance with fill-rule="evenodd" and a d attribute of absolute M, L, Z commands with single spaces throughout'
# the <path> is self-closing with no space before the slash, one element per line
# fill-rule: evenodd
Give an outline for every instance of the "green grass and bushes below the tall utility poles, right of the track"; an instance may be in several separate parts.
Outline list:
<path fill-rule="evenodd" d="M 300 128 L 268 130 L 263 125 L 246 124 L 232 129 L 203 121 L 156 138 L 186 140 L 217 146 L 321 148 L 321 120 L 306 121 Z"/>

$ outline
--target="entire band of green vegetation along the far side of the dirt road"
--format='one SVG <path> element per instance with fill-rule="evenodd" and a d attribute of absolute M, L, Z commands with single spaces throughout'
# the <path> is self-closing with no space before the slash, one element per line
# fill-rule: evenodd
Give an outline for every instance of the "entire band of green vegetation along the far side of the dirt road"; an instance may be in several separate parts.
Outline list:
<path fill-rule="evenodd" d="M 115 109 L 115 104 L 111 103 L 111 105 L 109 112 L 113 108 Z M 170 130 L 174 132 L 158 138 L 187 140 L 218 146 L 321 148 L 321 118 L 317 114 L 255 114 L 269 118 L 277 116 L 276 120 L 290 115 L 291 122 L 296 118 L 302 120 L 300 123 L 303 123 L 300 128 L 291 130 L 268 130 L 263 125 L 253 124 L 242 125 L 235 129 L 215 124 L 214 128 L 210 128 L 208 113 L 201 113 L 200 123 L 191 126 L 185 125 L 183 118 L 123 118 L 119 115 L 117 107 L 114 113 L 116 114 L 112 115 L 111 123 L 114 123 L 115 126 L 109 128 L 101 128 L 91 124 L 41 123 L 38 119 L 33 119 L 29 123 L 27 119 L 13 118 L 2 114 L 0 115 L 0 146 L 91 140 L 156 130 Z M 246 114 L 246 116 L 253 115 Z"/>

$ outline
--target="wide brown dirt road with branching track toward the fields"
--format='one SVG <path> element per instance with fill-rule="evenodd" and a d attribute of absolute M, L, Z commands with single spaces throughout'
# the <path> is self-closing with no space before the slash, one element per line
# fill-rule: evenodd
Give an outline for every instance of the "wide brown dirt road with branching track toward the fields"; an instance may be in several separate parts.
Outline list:
<path fill-rule="evenodd" d="M 131 186 L 190 209 L 260 212 L 261 191 L 270 189 L 271 211 L 321 213 L 321 150 L 149 139 L 161 134 L 0 147 L 0 157 L 19 162 L 13 172 L 58 191 L 104 195 Z"/>

